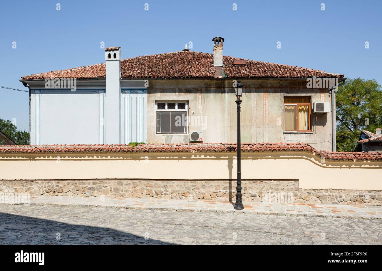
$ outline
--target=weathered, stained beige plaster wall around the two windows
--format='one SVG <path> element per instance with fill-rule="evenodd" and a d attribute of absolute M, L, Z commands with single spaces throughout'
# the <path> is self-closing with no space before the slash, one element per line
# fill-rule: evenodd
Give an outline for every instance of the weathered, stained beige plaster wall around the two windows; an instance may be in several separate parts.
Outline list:
<path fill-rule="evenodd" d="M 245 85 L 241 104 L 241 141 L 304 142 L 320 150 L 332 151 L 331 114 L 311 115 L 312 131 L 286 133 L 284 96 L 310 96 L 311 102 L 330 102 L 322 89 L 307 89 L 299 80 L 242 80 Z M 155 132 L 155 101 L 188 101 L 188 116 L 201 119 L 204 142 L 236 142 L 236 97 L 232 80 L 150 80 L 147 88 L 147 140 L 150 143 L 188 143 L 188 135 Z M 196 122 L 193 122 L 196 123 Z"/>

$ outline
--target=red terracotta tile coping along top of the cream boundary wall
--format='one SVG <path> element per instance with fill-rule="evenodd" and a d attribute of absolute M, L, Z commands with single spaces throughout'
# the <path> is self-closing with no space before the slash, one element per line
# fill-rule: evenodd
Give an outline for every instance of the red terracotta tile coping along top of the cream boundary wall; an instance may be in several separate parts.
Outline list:
<path fill-rule="evenodd" d="M 236 152 L 236 143 L 190 143 L 190 144 L 139 144 L 132 147 L 126 144 L 75 144 L 75 145 L 5 145 L 0 146 L 0 153 L 204 153 L 204 152 Z M 243 152 L 310 152 L 329 160 L 353 161 L 382 161 L 382 153 L 365 152 L 327 152 L 317 151 L 306 143 L 243 143 Z"/>

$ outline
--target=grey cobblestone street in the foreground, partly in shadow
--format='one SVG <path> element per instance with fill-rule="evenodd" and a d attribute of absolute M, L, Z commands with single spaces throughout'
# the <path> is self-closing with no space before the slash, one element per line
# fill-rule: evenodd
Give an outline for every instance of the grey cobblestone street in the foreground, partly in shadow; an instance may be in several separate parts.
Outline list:
<path fill-rule="evenodd" d="M 381 226 L 379 219 L 0 205 L 0 244 L 382 244 Z"/>

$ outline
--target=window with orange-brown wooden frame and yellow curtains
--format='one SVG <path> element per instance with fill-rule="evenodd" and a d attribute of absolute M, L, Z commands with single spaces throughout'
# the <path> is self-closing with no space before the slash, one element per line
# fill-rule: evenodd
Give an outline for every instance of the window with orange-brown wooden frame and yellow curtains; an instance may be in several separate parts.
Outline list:
<path fill-rule="evenodd" d="M 310 131 L 310 115 L 310 97 L 284 97 L 284 131 Z"/>

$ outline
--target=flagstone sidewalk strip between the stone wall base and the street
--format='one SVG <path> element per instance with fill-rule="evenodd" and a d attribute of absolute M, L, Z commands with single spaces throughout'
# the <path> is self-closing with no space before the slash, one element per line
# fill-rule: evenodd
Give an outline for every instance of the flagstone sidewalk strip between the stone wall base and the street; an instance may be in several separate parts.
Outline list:
<path fill-rule="evenodd" d="M 163 200 L 153 198 L 102 198 L 70 196 L 33 196 L 31 204 L 77 205 L 86 207 L 107 207 L 125 209 L 145 209 L 153 211 L 196 211 L 233 213 L 233 204 L 229 201 L 209 200 Z M 354 204 L 307 204 L 307 203 L 265 203 L 243 202 L 248 214 L 273 214 L 285 216 L 321 216 L 342 218 L 368 218 L 382 220 L 382 206 Z"/>

